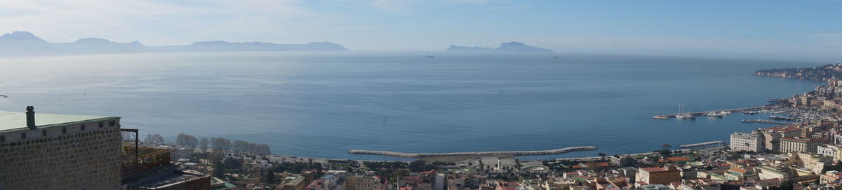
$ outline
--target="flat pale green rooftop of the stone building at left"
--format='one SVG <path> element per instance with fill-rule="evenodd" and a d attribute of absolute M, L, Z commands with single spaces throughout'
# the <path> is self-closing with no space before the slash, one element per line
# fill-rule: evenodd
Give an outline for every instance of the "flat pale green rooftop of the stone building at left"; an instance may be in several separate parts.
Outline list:
<path fill-rule="evenodd" d="M 104 121 L 117 117 L 113 116 L 73 116 L 58 114 L 35 113 L 35 126 L 46 128 L 51 126 L 71 125 L 88 121 Z M 26 126 L 26 113 L 0 111 L 0 132 L 17 131 L 28 129 Z"/>

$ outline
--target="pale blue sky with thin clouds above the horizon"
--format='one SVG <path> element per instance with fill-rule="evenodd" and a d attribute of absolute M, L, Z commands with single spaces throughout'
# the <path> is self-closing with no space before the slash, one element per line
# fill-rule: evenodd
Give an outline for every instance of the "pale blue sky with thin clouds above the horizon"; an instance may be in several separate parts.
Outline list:
<path fill-rule="evenodd" d="M 842 0 L 2 0 L 0 33 L 438 51 L 519 41 L 562 53 L 842 59 Z"/>

